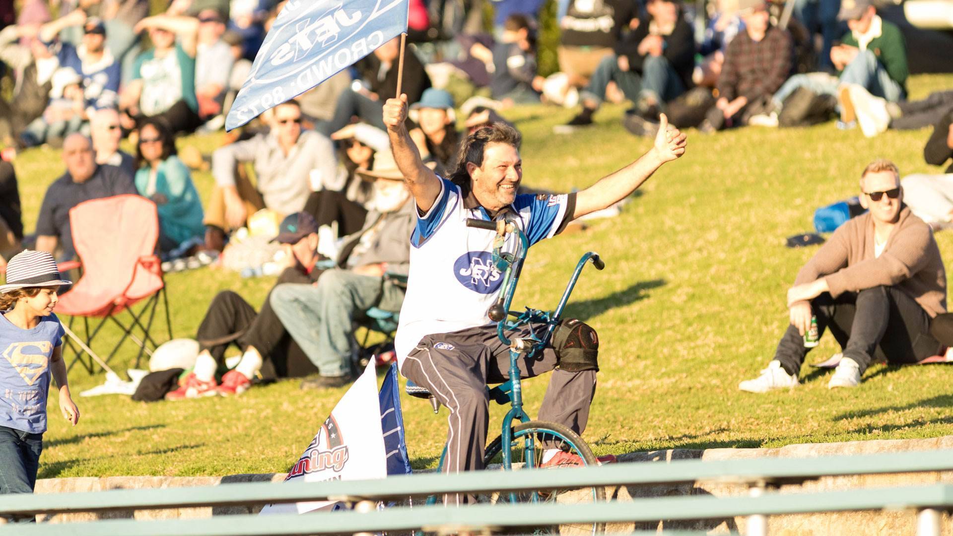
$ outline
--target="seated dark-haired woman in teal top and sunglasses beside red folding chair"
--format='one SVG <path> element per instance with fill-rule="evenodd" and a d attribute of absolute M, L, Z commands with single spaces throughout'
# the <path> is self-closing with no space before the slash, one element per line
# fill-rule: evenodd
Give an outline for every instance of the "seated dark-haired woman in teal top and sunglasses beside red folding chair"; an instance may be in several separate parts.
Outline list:
<path fill-rule="evenodd" d="M 189 168 L 175 155 L 175 136 L 164 121 L 145 119 L 139 127 L 136 148 L 135 189 L 159 209 L 159 250 L 184 254 L 187 242 L 201 243 L 202 201 L 195 191 Z M 188 245 L 186 245 L 188 247 Z"/>

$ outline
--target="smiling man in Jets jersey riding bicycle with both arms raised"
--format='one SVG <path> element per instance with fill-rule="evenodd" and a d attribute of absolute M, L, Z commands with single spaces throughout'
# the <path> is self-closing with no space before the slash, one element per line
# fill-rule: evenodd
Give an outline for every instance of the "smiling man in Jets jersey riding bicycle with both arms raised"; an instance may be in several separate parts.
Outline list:
<path fill-rule="evenodd" d="M 423 165 L 407 133 L 407 96 L 388 99 L 383 114 L 397 167 L 417 207 L 395 340 L 400 372 L 450 409 L 444 471 L 481 469 L 489 418 L 486 385 L 508 380 L 510 360 L 509 348 L 497 339 L 495 322 L 487 316 L 503 282 L 492 262 L 497 234 L 467 227 L 466 219 L 512 221 L 530 244 L 554 237 L 570 221 L 629 196 L 662 164 L 683 155 L 685 134 L 666 128 L 662 114 L 654 147 L 618 172 L 574 194 L 517 196 L 522 162 L 520 136 L 513 128 L 496 123 L 470 134 L 448 180 Z M 541 356 L 519 362 L 522 378 L 554 371 L 540 420 L 582 433 L 596 393 L 597 355 L 596 332 L 567 320 Z M 542 466 L 574 463 L 581 464 L 578 456 L 558 449 L 542 459 Z"/>

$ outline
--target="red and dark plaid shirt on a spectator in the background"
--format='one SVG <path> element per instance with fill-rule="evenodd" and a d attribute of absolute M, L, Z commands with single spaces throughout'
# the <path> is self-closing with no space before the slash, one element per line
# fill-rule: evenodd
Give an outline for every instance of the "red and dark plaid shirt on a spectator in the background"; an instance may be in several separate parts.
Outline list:
<path fill-rule="evenodd" d="M 770 96 L 787 80 L 793 65 L 794 49 L 787 31 L 771 27 L 760 41 L 741 31 L 724 54 L 718 79 L 719 96 L 728 100 L 745 96 L 753 102 Z"/>

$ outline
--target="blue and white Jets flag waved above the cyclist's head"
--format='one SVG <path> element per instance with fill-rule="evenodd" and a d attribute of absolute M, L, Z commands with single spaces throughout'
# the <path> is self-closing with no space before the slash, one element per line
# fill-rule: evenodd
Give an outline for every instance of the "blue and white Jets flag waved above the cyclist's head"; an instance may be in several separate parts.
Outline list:
<path fill-rule="evenodd" d="M 407 31 L 410 0 L 289 0 L 225 119 L 231 131 Z"/>

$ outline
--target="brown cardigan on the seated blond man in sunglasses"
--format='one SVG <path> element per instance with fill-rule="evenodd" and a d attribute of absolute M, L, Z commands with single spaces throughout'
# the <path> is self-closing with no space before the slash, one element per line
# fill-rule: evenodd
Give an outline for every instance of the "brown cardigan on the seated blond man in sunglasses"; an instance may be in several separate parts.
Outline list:
<path fill-rule="evenodd" d="M 794 284 L 826 278 L 830 294 L 895 286 L 932 318 L 946 312 L 946 272 L 940 248 L 923 219 L 903 205 L 897 225 L 874 257 L 874 221 L 870 213 L 857 216 L 834 232 L 821 250 L 804 264 Z"/>

